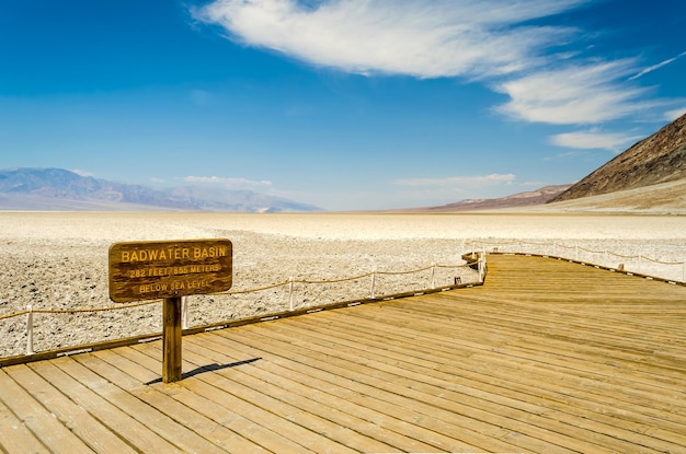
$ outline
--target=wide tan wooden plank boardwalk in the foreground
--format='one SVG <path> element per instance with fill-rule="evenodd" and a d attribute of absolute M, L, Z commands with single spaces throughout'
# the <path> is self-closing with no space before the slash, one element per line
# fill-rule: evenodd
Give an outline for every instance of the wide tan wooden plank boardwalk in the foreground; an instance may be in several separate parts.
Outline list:
<path fill-rule="evenodd" d="M 686 288 L 489 256 L 483 287 L 0 369 L 0 452 L 686 452 Z"/>

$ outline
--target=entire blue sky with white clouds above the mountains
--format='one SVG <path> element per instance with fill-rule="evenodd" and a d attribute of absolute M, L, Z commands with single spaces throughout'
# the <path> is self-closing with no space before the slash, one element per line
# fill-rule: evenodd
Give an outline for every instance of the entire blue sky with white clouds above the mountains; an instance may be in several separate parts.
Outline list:
<path fill-rule="evenodd" d="M 2 0 L 0 65 L 0 168 L 435 206 L 686 113 L 686 2 Z"/>

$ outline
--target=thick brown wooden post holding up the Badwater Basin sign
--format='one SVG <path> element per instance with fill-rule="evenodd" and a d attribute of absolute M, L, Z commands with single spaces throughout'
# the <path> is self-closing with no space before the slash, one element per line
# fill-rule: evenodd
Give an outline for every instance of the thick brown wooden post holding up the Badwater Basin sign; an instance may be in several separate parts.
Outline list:
<path fill-rule="evenodd" d="M 173 383 L 181 373 L 181 296 L 162 303 L 162 382 Z"/>

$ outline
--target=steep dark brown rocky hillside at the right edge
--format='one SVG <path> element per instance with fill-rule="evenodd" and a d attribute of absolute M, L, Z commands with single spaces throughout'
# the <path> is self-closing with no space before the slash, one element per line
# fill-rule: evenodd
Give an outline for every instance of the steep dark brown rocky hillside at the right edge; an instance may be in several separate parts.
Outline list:
<path fill-rule="evenodd" d="M 686 178 L 686 115 L 598 167 L 552 201 Z"/>

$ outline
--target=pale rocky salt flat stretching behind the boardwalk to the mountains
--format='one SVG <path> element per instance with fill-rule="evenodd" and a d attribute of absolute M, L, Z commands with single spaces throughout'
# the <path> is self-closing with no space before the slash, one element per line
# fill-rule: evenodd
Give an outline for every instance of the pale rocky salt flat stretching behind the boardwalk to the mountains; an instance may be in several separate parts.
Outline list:
<path fill-rule="evenodd" d="M 0 213 L 0 357 L 26 349 L 27 305 L 72 311 L 122 307 L 108 298 L 108 247 L 129 241 L 229 238 L 232 292 L 296 280 L 336 280 L 374 270 L 436 269 L 435 286 L 476 280 L 472 248 L 580 258 L 682 281 L 686 217 L 588 213 Z M 576 255 L 576 257 L 574 257 Z M 664 261 L 665 264 L 661 264 Z M 677 265 L 668 265 L 676 263 Z M 455 266 L 455 267 L 454 267 Z M 431 270 L 378 275 L 376 295 L 431 286 Z M 296 307 L 369 295 L 369 277 L 294 286 Z M 288 286 L 188 296 L 188 326 L 287 310 Z M 34 314 L 34 350 L 161 329 L 159 303 L 102 312 Z"/>

